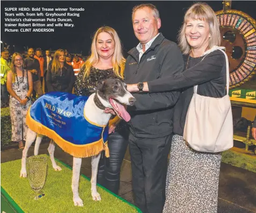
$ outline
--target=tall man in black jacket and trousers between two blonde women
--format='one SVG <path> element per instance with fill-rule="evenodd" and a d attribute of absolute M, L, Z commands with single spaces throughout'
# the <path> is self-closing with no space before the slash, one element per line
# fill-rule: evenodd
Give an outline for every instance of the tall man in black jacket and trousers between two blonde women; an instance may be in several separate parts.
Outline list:
<path fill-rule="evenodd" d="M 159 12 L 152 4 L 135 6 L 134 33 L 140 43 L 131 49 L 125 66 L 125 82 L 165 78 L 182 72 L 184 62 L 177 44 L 158 32 Z M 171 27 L 171 26 L 170 26 Z M 138 83 L 142 90 L 143 83 Z M 135 202 L 142 212 L 160 213 L 165 202 L 167 156 L 173 128 L 173 106 L 178 92 L 138 93 L 129 107 L 129 151 Z"/>

